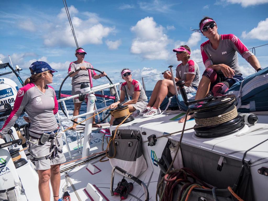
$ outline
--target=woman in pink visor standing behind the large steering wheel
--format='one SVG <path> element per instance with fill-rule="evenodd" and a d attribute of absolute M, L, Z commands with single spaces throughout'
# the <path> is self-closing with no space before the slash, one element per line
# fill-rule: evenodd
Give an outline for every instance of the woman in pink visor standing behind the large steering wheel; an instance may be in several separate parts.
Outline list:
<path fill-rule="evenodd" d="M 93 77 L 95 80 L 99 79 L 101 77 L 106 76 L 107 74 L 105 72 L 96 74 L 94 70 L 87 70 L 87 68 L 93 68 L 91 63 L 84 61 L 85 55 L 87 53 L 85 50 L 81 47 L 77 48 L 75 50 L 75 56 L 77 57 L 77 60 L 74 62 L 71 62 L 69 65 L 68 73 L 71 73 L 77 69 L 81 69 L 72 75 L 72 95 L 80 94 L 80 86 L 82 82 L 90 83 L 90 76 Z M 89 75 L 91 73 L 91 75 Z M 74 110 L 73 110 L 73 116 L 79 115 L 79 110 L 81 108 L 81 101 L 78 100 L 78 98 L 73 99 L 74 103 Z M 77 121 L 77 119 L 74 119 L 74 121 Z M 93 123 L 95 123 L 95 118 L 93 119 Z M 73 125 L 76 125 L 74 122 Z M 99 125 L 95 125 L 95 127 L 99 127 Z M 76 126 L 74 126 L 72 129 L 76 129 Z"/>

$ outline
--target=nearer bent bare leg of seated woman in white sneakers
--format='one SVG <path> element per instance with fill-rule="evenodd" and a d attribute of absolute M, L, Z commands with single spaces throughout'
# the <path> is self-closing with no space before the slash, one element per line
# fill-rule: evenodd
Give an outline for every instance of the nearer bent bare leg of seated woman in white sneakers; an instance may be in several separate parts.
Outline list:
<path fill-rule="evenodd" d="M 157 98 L 156 98 L 155 103 L 152 107 L 158 109 L 159 106 L 161 105 L 162 101 L 164 100 L 164 98 L 168 94 L 168 91 L 170 91 L 170 93 L 172 93 L 172 94 L 176 93 L 175 89 L 174 89 L 173 81 L 167 80 L 167 79 L 162 80 L 161 85 L 159 87 Z"/>

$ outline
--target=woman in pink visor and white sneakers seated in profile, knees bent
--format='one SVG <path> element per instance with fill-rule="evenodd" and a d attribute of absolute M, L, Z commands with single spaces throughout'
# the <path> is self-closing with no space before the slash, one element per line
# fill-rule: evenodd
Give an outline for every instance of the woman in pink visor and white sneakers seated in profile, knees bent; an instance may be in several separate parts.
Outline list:
<path fill-rule="evenodd" d="M 177 60 L 182 62 L 176 68 L 175 81 L 185 81 L 184 88 L 187 94 L 196 92 L 199 84 L 199 67 L 196 62 L 190 59 L 190 48 L 187 45 L 183 45 L 174 49 L 173 52 L 176 52 Z M 171 97 L 176 94 L 170 71 L 164 73 L 164 78 L 164 80 L 159 80 L 156 83 L 148 105 L 140 113 L 143 117 L 151 117 L 155 114 L 160 114 L 161 110 L 159 106 L 164 98 L 167 95 Z M 178 93 L 180 93 L 180 91 L 178 91 Z"/>

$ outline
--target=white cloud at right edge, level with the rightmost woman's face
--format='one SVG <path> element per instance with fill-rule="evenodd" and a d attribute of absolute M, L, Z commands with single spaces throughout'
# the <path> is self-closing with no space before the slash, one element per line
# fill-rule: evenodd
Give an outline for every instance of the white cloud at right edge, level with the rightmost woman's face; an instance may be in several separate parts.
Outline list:
<path fill-rule="evenodd" d="M 242 38 L 268 40 L 268 18 L 264 21 L 260 21 L 258 26 L 250 32 L 247 33 L 246 31 L 243 31 Z"/>

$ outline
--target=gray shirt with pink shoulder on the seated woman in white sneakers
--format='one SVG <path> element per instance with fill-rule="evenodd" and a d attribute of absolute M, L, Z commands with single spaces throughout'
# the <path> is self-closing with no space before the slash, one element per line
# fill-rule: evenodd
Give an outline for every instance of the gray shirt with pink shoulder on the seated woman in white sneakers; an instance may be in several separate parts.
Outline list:
<path fill-rule="evenodd" d="M 186 81 L 187 74 L 194 74 L 195 75 L 191 85 L 193 87 L 198 87 L 199 77 L 200 77 L 199 66 L 193 60 L 189 60 L 185 65 L 183 65 L 183 63 L 181 63 L 176 68 L 176 77 L 178 79 Z"/>

